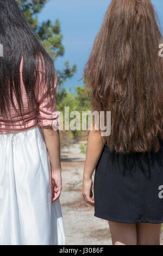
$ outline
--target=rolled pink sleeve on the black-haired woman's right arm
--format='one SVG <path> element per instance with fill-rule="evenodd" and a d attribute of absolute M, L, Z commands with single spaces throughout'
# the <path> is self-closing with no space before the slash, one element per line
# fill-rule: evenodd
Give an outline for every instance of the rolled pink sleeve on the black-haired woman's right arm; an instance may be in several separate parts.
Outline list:
<path fill-rule="evenodd" d="M 43 84 L 42 76 L 44 76 L 41 72 L 38 72 L 37 75 L 39 76 L 36 82 L 36 89 L 35 89 L 35 97 L 38 102 L 39 107 L 39 114 L 37 118 L 37 125 L 38 126 L 59 126 L 59 112 L 55 110 L 55 95 L 51 97 L 47 96 L 47 86 Z M 56 92 L 57 86 L 57 78 L 54 81 L 54 89 Z M 52 90 L 51 90 L 52 92 Z M 49 100 L 49 105 L 48 105 Z"/>

